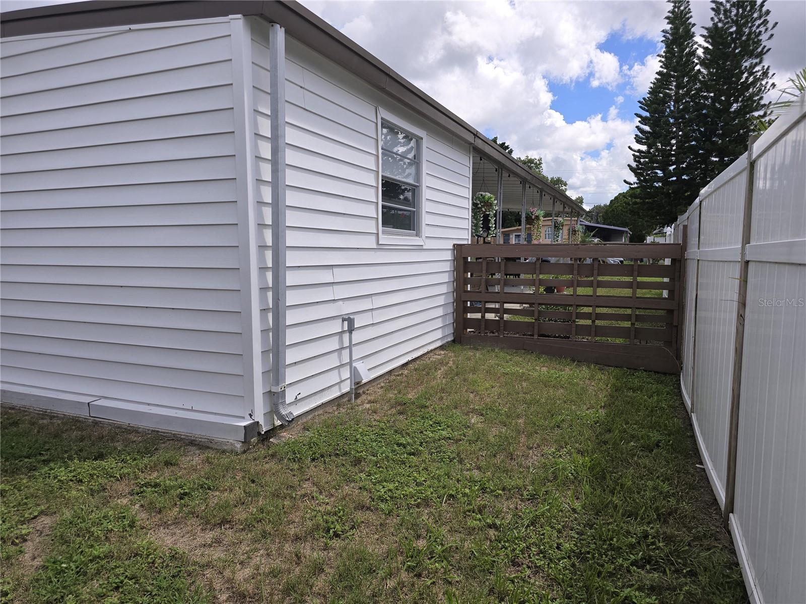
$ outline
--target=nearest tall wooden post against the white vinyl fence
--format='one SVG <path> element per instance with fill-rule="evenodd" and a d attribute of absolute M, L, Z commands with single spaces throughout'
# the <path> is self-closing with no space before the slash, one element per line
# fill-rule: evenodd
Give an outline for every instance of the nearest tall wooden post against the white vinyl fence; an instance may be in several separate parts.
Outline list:
<path fill-rule="evenodd" d="M 747 143 L 747 174 L 745 205 L 742 217 L 742 242 L 739 244 L 739 287 L 736 308 L 736 333 L 733 337 L 733 379 L 730 387 L 730 415 L 728 423 L 728 467 L 725 473 L 725 507 L 722 520 L 728 527 L 736 495 L 736 451 L 739 436 L 739 401 L 742 395 L 742 350 L 745 343 L 745 308 L 747 303 L 748 263 L 745 248 L 750 243 L 750 219 L 753 214 L 753 143 L 758 134 L 750 135 Z"/>

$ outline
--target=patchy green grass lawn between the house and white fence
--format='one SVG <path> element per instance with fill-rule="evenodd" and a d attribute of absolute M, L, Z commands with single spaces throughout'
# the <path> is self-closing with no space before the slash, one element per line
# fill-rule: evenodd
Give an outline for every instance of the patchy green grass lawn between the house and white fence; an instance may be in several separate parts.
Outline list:
<path fill-rule="evenodd" d="M 450 345 L 244 454 L 2 412 L 3 602 L 746 602 L 675 376 Z"/>

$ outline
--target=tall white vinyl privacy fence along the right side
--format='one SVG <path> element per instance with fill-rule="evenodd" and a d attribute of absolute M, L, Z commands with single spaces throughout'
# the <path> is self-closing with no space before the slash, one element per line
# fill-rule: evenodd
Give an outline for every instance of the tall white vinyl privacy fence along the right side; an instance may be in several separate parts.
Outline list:
<path fill-rule="evenodd" d="M 700 192 L 680 387 L 753 602 L 806 602 L 806 99 Z"/>

